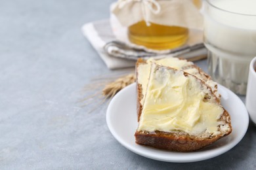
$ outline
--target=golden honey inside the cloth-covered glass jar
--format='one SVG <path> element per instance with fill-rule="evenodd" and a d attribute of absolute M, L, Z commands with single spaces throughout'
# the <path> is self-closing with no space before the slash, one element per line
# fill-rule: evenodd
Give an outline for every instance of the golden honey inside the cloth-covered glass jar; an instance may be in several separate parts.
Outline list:
<path fill-rule="evenodd" d="M 201 1 L 192 0 L 200 9 Z M 159 25 L 141 21 L 128 28 L 129 41 L 154 50 L 166 50 L 182 46 L 188 39 L 188 28 Z"/>

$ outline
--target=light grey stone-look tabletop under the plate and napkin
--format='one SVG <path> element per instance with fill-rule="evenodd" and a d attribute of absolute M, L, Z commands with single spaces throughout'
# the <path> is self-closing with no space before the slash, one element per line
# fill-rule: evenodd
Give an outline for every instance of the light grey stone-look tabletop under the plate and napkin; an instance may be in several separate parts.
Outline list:
<path fill-rule="evenodd" d="M 80 99 L 91 78 L 112 75 L 81 34 L 112 1 L 0 1 L 0 169 L 255 169 L 256 128 L 232 150 L 195 163 L 139 156 Z M 197 64 L 206 70 L 206 61 Z M 244 97 L 242 97 L 244 99 Z"/>

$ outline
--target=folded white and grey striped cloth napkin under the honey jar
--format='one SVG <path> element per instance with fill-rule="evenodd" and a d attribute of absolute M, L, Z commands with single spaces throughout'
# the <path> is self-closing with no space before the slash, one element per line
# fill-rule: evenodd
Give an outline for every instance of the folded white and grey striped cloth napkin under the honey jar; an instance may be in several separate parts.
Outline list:
<path fill-rule="evenodd" d="M 155 53 L 160 58 L 163 57 L 160 55 L 164 55 L 170 57 L 178 56 L 189 59 L 196 56 L 206 56 L 207 54 L 207 50 L 204 47 L 197 50 L 190 50 L 191 47 L 202 44 L 202 31 L 190 31 L 188 42 L 181 48 L 178 48 L 178 51 L 177 49 L 156 51 L 144 48 L 143 46 L 131 44 L 127 39 L 126 29 L 116 21 L 116 18 L 111 18 L 111 22 L 109 19 L 90 22 L 83 25 L 81 29 L 83 35 L 85 35 L 89 42 L 91 42 L 96 52 L 98 52 L 100 58 L 103 59 L 109 69 L 134 67 L 136 62 L 135 60 L 127 59 L 127 56 L 131 54 L 131 51 L 125 51 L 119 48 L 108 48 L 108 50 L 106 50 L 106 48 L 104 49 L 106 44 L 113 41 L 125 42 L 125 44 L 131 48 L 139 48 L 145 52 Z M 115 56 L 113 54 L 118 55 Z M 120 56 L 125 57 L 121 58 Z"/>

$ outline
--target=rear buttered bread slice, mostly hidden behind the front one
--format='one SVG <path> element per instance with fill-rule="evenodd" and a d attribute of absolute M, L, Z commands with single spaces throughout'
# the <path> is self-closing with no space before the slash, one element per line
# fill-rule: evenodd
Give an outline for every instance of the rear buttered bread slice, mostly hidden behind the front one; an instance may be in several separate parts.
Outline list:
<path fill-rule="evenodd" d="M 179 58 L 163 58 L 163 59 L 138 59 L 136 63 L 136 74 L 137 74 L 137 116 L 138 121 L 140 118 L 142 105 L 144 103 L 144 95 L 146 92 L 146 87 L 148 85 L 148 78 L 150 76 L 150 67 L 151 63 L 157 63 L 159 65 L 164 65 L 167 67 L 172 67 L 175 69 L 181 69 L 187 73 L 190 73 L 194 76 L 197 76 L 201 80 L 203 80 L 206 84 L 211 87 L 211 90 L 219 101 L 221 100 L 221 95 L 219 95 L 217 90 L 217 83 L 211 80 L 211 76 L 207 75 L 205 72 L 200 69 L 200 67 L 194 65 L 191 61 L 187 61 L 186 59 L 179 59 Z"/>

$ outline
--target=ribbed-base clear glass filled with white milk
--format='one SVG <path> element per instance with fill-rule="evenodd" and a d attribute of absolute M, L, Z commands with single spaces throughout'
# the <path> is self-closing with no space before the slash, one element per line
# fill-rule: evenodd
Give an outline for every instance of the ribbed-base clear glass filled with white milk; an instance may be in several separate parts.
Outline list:
<path fill-rule="evenodd" d="M 203 14 L 209 74 L 245 95 L 249 63 L 256 56 L 256 1 L 206 0 Z"/>

